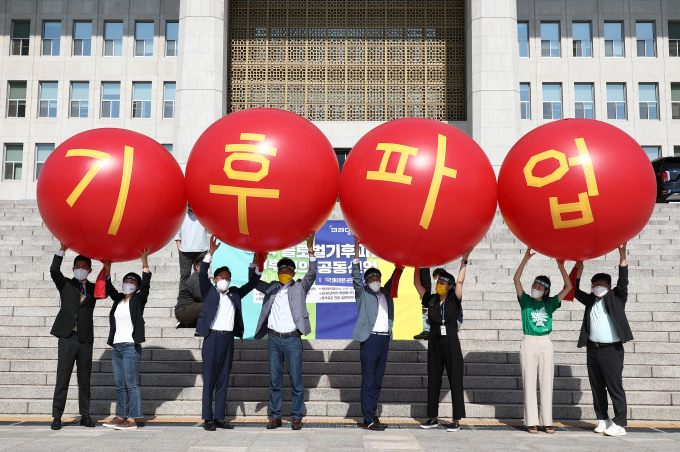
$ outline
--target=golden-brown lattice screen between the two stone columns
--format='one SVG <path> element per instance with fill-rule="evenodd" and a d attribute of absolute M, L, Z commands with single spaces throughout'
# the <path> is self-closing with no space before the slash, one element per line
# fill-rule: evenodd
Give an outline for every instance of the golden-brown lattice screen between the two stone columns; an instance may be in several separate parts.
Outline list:
<path fill-rule="evenodd" d="M 230 0 L 228 111 L 465 121 L 464 0 Z"/>

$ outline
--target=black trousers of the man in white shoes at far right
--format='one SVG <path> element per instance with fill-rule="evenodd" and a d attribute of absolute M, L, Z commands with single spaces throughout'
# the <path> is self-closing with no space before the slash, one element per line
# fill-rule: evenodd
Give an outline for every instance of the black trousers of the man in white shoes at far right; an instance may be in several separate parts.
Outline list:
<path fill-rule="evenodd" d="M 612 420 L 621 427 L 628 425 L 626 393 L 623 390 L 623 344 L 596 347 L 588 342 L 587 363 L 593 406 L 598 420 L 609 419 L 607 392 L 614 405 Z"/>

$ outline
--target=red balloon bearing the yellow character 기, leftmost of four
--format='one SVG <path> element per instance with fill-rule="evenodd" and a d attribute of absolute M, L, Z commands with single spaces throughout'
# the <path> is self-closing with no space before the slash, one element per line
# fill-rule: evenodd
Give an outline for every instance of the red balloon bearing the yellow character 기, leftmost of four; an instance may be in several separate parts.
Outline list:
<path fill-rule="evenodd" d="M 124 129 L 94 129 L 64 141 L 38 179 L 38 209 L 47 228 L 75 252 L 124 262 L 158 251 L 186 214 L 182 169 L 151 138 Z"/>

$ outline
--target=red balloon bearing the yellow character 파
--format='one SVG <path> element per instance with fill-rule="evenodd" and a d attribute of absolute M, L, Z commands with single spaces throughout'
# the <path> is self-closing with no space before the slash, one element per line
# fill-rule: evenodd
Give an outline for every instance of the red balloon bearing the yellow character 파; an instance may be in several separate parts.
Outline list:
<path fill-rule="evenodd" d="M 359 240 L 396 265 L 434 267 L 476 245 L 496 212 L 496 176 L 484 151 L 438 121 L 376 127 L 349 153 L 340 207 Z"/>

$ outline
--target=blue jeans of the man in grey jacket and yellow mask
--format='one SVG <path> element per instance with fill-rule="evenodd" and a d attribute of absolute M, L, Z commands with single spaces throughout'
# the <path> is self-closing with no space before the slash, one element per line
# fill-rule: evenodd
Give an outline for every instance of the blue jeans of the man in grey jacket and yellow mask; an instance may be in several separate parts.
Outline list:
<path fill-rule="evenodd" d="M 269 351 L 269 409 L 272 417 L 281 419 L 281 380 L 283 363 L 288 367 L 290 385 L 293 389 L 292 417 L 302 419 L 305 410 L 305 388 L 302 385 L 302 339 L 299 337 L 281 338 L 268 335 Z"/>

